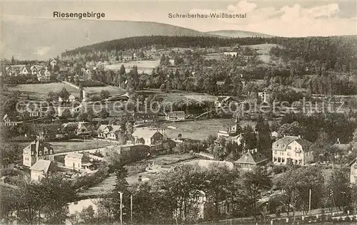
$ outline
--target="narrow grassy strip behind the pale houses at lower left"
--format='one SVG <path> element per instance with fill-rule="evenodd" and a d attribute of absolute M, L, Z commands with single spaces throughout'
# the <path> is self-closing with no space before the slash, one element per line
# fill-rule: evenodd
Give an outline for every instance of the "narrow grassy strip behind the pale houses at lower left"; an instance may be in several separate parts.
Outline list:
<path fill-rule="evenodd" d="M 69 140 L 67 142 L 49 142 L 54 148 L 54 153 L 69 152 L 77 150 L 90 150 L 95 148 L 106 147 L 113 145 L 111 142 L 100 141 L 100 140 Z M 29 145 L 30 142 L 21 142 L 19 147 L 24 148 Z"/>

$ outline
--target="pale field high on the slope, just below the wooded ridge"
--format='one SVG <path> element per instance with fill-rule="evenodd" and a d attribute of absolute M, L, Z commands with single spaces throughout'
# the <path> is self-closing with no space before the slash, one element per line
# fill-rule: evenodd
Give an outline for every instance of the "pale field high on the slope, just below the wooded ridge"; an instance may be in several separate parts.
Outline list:
<path fill-rule="evenodd" d="M 116 64 L 111 64 L 111 65 L 106 65 L 105 68 L 110 69 L 110 70 L 119 70 L 121 68 L 121 65 L 124 65 L 126 68 L 126 73 L 129 73 L 131 68 L 133 66 L 138 67 L 138 72 L 139 73 L 148 73 L 151 74 L 153 68 L 156 68 L 159 66 L 160 61 L 155 60 L 155 61 L 131 61 L 127 63 L 116 63 Z"/>

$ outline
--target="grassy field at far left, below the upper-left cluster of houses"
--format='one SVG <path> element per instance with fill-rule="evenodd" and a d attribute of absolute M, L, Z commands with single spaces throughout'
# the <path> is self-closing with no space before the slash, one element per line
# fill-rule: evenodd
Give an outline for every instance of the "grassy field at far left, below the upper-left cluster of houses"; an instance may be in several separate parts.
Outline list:
<path fill-rule="evenodd" d="M 31 100 L 44 100 L 50 91 L 59 92 L 62 88 L 66 88 L 66 90 L 68 90 L 69 93 L 73 93 L 74 96 L 79 95 L 76 88 L 65 83 L 21 84 L 9 87 L 9 90 L 19 91 L 22 98 L 27 98 L 29 95 Z"/>

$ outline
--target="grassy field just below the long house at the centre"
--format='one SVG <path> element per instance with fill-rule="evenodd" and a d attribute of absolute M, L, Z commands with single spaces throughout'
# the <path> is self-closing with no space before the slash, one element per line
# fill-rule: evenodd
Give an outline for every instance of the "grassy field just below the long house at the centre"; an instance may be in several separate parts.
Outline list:
<path fill-rule="evenodd" d="M 216 120 L 197 120 L 188 122 L 170 122 L 166 126 L 176 127 L 176 129 L 168 129 L 167 136 L 176 138 L 178 134 L 182 137 L 188 137 L 193 140 L 204 140 L 208 135 L 216 135 L 218 130 L 226 130 L 226 125 L 233 125 L 232 119 L 216 119 Z M 241 121 L 241 126 L 254 126 L 255 122 Z"/>

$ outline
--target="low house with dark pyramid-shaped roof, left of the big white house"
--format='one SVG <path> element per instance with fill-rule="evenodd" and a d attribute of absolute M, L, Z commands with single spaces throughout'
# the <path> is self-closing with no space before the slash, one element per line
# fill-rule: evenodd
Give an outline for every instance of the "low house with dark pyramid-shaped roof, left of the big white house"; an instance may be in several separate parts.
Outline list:
<path fill-rule="evenodd" d="M 268 159 L 259 153 L 256 149 L 245 152 L 234 164 L 245 170 L 251 170 L 257 166 L 263 166 Z"/>

